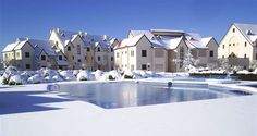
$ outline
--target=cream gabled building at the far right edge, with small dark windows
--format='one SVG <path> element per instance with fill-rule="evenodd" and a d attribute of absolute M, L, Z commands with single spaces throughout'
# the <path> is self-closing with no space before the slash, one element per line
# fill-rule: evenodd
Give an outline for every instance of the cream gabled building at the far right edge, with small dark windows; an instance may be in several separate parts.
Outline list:
<path fill-rule="evenodd" d="M 257 60 L 257 25 L 234 23 L 219 46 L 219 58 L 229 58 L 231 66 L 248 69 Z"/>

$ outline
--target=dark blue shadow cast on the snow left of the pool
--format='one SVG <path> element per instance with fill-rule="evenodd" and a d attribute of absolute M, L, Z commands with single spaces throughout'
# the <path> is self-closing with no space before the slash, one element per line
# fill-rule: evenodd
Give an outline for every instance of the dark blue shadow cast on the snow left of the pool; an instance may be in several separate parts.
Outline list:
<path fill-rule="evenodd" d="M 44 96 L 34 96 L 46 94 L 47 91 L 7 91 L 0 92 L 0 115 L 13 113 L 38 112 L 48 110 L 58 110 L 61 108 L 51 108 L 37 104 L 72 101 L 65 98 L 50 98 Z"/>

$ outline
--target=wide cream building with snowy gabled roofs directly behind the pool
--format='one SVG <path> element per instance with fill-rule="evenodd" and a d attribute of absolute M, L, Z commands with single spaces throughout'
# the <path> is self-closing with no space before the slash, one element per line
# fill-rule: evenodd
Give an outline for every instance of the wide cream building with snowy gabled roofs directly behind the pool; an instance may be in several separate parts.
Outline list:
<path fill-rule="evenodd" d="M 131 30 L 128 38 L 114 48 L 115 67 L 124 71 L 184 71 L 187 50 L 199 60 L 199 66 L 217 61 L 218 44 L 213 37 L 201 38 L 198 34 L 170 29 Z"/>

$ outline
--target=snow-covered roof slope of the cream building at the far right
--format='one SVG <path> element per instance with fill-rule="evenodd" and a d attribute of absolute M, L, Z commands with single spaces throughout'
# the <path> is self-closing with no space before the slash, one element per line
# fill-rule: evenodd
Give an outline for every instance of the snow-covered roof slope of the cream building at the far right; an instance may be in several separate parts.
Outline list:
<path fill-rule="evenodd" d="M 241 30 L 241 33 L 249 40 L 255 42 L 257 40 L 257 25 L 256 24 L 240 24 L 234 23 L 234 25 Z"/>

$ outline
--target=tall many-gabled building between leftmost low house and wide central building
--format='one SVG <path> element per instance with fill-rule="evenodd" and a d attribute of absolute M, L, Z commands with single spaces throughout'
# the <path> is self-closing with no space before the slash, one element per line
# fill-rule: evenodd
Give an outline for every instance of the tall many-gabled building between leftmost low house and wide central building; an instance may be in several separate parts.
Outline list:
<path fill-rule="evenodd" d="M 107 35 L 89 35 L 86 32 L 69 32 L 54 28 L 49 41 L 62 51 L 69 69 L 113 70 L 115 38 Z"/>

